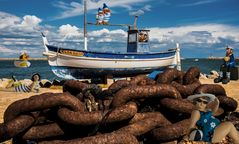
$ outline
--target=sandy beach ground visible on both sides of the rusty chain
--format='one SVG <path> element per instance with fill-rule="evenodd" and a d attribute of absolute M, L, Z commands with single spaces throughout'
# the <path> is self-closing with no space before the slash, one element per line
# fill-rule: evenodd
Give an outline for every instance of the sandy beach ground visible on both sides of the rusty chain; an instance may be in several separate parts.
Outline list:
<path fill-rule="evenodd" d="M 207 79 L 207 78 L 200 78 L 200 81 L 202 84 L 214 84 L 213 79 Z M 237 81 L 230 81 L 228 84 L 221 84 L 222 85 L 228 96 L 233 97 L 237 102 L 239 102 L 239 80 Z M 3 92 L 0 91 L 0 123 L 3 122 L 3 115 L 4 111 L 6 108 L 13 103 L 14 101 L 28 98 L 33 95 L 38 95 L 41 93 L 46 93 L 46 92 L 52 92 L 52 93 L 61 93 L 62 89 L 61 88 L 41 88 L 39 93 L 16 93 L 16 92 Z M 239 111 L 239 108 L 237 108 L 236 111 Z M 4 144 L 10 144 L 11 141 L 6 141 Z"/>

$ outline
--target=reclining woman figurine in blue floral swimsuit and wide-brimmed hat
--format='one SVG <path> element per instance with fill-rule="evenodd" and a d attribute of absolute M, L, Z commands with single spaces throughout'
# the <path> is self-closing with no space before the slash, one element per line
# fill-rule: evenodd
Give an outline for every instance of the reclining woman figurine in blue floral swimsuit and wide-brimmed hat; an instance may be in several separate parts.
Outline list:
<path fill-rule="evenodd" d="M 191 121 L 185 141 L 190 139 L 192 130 L 199 129 L 202 132 L 202 141 L 210 143 L 220 143 L 227 135 L 233 140 L 234 144 L 239 144 L 239 133 L 231 122 L 220 122 L 214 117 L 218 108 L 219 100 L 212 94 L 202 93 L 191 95 L 187 98 L 195 104 L 192 111 Z M 207 109 L 207 104 L 215 102 L 213 109 Z"/>

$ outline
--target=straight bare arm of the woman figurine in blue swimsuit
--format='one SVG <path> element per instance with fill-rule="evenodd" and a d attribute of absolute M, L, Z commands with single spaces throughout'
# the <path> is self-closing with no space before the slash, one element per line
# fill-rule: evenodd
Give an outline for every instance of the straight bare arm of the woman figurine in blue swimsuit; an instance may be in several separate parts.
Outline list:
<path fill-rule="evenodd" d="M 199 110 L 193 110 L 191 113 L 191 117 L 190 117 L 190 124 L 188 126 L 186 135 L 183 137 L 184 140 L 188 140 L 189 139 L 189 134 L 192 131 L 192 129 L 196 128 L 196 123 L 197 121 L 200 119 L 200 112 Z"/>

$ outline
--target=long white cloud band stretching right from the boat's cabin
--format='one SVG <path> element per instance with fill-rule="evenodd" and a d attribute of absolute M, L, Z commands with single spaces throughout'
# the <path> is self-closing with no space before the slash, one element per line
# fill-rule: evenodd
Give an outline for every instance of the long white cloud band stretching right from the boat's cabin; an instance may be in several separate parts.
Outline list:
<path fill-rule="evenodd" d="M 220 38 L 239 42 L 239 28 L 222 24 L 204 24 L 169 28 L 150 28 L 151 38 L 167 42 L 173 40 L 179 43 L 220 43 Z"/>

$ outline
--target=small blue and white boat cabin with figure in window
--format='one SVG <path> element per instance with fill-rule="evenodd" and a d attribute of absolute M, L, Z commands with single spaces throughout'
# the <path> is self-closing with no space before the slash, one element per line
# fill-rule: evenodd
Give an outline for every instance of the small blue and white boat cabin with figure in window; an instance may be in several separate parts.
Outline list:
<path fill-rule="evenodd" d="M 127 52 L 149 52 L 149 30 L 128 30 Z"/>

